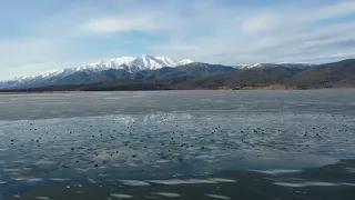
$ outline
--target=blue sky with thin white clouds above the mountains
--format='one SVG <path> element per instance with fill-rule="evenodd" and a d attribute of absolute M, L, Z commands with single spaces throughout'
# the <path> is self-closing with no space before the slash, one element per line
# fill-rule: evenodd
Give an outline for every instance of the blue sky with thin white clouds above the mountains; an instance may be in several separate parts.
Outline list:
<path fill-rule="evenodd" d="M 237 64 L 355 57 L 355 0 L 0 0 L 0 80 L 141 54 Z"/>

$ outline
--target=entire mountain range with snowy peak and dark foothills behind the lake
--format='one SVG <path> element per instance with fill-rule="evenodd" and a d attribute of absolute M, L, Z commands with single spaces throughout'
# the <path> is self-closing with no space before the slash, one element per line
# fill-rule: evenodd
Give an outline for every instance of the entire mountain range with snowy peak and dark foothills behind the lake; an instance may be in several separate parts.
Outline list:
<path fill-rule="evenodd" d="M 355 86 L 355 60 L 327 64 L 222 66 L 142 56 L 122 57 L 0 81 L 1 90 L 308 89 Z"/>

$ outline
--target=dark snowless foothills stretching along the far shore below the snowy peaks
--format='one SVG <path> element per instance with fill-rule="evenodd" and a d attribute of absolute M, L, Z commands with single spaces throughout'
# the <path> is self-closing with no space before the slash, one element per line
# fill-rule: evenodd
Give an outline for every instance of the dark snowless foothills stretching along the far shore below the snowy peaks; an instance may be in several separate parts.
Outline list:
<path fill-rule="evenodd" d="M 199 73 L 194 73 L 195 71 Z M 54 84 L 28 90 L 2 90 L 2 92 L 355 88 L 355 59 L 308 68 L 278 66 L 234 69 L 193 62 L 176 68 L 165 67 L 158 70 L 139 71 L 136 74 L 130 73 L 126 79 L 119 80 L 118 76 L 124 77 L 126 71 L 108 70 L 103 73 L 105 77 L 111 77 L 111 80 L 85 84 Z"/>

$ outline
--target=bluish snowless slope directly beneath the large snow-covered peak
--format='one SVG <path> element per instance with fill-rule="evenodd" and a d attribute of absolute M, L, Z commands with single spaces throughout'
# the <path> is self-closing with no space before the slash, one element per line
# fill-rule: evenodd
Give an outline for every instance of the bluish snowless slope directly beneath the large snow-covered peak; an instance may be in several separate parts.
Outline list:
<path fill-rule="evenodd" d="M 27 82 L 21 88 L 41 88 L 45 86 L 64 86 L 64 84 L 92 84 L 98 82 L 109 82 L 114 80 L 155 80 L 155 79 L 174 79 L 181 77 L 200 77 L 220 74 L 234 71 L 232 67 L 215 66 L 207 63 L 189 63 L 175 68 L 163 67 L 155 70 L 140 70 L 131 72 L 125 69 L 108 69 L 103 71 L 77 71 L 65 77 L 50 77 L 44 80 Z M 10 89 L 20 89 L 10 88 Z"/>

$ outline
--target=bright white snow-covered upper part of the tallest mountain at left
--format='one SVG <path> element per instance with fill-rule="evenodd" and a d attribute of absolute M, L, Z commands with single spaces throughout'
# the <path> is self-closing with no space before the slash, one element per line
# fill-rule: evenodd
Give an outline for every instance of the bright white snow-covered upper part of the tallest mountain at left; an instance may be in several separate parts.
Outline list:
<path fill-rule="evenodd" d="M 148 54 L 143 54 L 138 58 L 121 57 L 111 59 L 109 61 L 87 63 L 81 67 L 58 69 L 42 72 L 36 76 L 18 77 L 11 80 L 0 81 L 0 89 L 23 88 L 26 86 L 48 86 L 60 78 L 65 78 L 75 72 L 100 72 L 104 70 L 115 69 L 133 73 L 141 70 L 156 70 L 163 67 L 184 66 L 191 62 L 193 61 L 190 59 L 179 60 L 164 57 L 153 57 Z"/>

